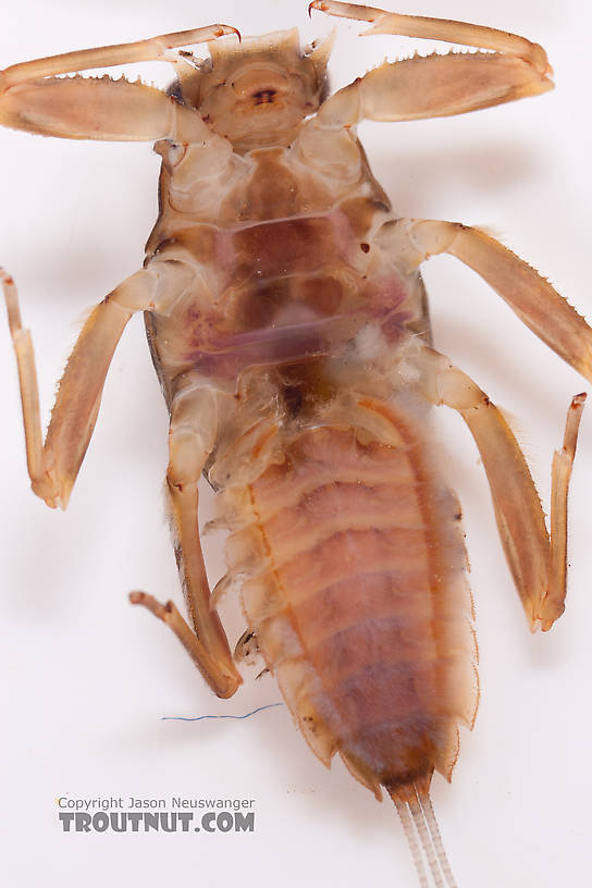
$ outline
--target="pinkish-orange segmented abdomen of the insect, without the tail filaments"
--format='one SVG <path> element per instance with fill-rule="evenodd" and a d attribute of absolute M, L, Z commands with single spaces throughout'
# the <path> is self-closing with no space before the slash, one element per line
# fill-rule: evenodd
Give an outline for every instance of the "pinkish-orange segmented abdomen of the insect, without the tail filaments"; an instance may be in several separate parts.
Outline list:
<path fill-rule="evenodd" d="M 456 498 L 412 411 L 369 410 L 390 443 L 331 423 L 295 433 L 244 486 L 227 554 L 252 575 L 245 613 L 309 744 L 380 794 L 449 776 L 477 678 Z"/>

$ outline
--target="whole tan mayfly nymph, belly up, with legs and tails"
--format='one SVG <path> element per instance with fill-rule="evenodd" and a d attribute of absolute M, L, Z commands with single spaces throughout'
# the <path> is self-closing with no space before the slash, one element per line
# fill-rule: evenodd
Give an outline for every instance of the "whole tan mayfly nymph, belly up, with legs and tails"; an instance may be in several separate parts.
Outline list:
<path fill-rule="evenodd" d="M 384 64 L 326 99 L 329 45 L 303 55 L 294 32 L 212 42 L 209 65 L 170 50 L 232 28 L 2 73 L 4 124 L 158 138 L 163 161 L 145 268 L 85 324 L 44 447 L 30 338 L 4 278 L 29 474 L 49 505 L 66 505 L 111 355 L 144 310 L 171 416 L 166 480 L 193 629 L 171 603 L 145 593 L 133 602 L 171 626 L 212 690 L 230 696 L 242 679 L 215 605 L 239 579 L 248 630 L 312 750 L 325 763 L 338 753 L 379 798 L 384 787 L 422 884 L 414 828 L 435 884 L 452 885 L 428 790 L 434 769 L 449 777 L 457 723 L 472 724 L 478 686 L 460 511 L 436 468 L 428 410 L 446 404 L 469 425 L 528 619 L 548 629 L 565 596 L 567 488 L 583 396 L 554 460 L 550 538 L 506 421 L 431 346 L 418 268 L 433 254 L 457 256 L 587 378 L 592 333 L 484 233 L 397 218 L 355 133 L 363 118 L 454 114 L 546 91 L 541 47 L 460 23 L 312 5 L 379 32 L 493 53 Z M 172 96 L 54 77 L 146 58 L 174 61 Z M 213 599 L 196 533 L 202 472 L 220 491 L 218 523 L 231 530 L 230 571 Z"/>

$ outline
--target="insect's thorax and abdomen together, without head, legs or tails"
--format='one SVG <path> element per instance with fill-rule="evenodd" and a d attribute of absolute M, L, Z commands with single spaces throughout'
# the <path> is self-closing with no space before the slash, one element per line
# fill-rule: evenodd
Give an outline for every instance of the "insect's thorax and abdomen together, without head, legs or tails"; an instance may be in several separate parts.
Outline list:
<path fill-rule="evenodd" d="M 215 394 L 209 478 L 268 667 L 313 751 L 380 795 L 449 776 L 477 699 L 458 506 L 412 382 L 423 287 L 381 243 L 395 217 L 356 136 L 271 135 L 159 145 L 150 255 L 194 278 L 147 328 L 170 399 Z"/>

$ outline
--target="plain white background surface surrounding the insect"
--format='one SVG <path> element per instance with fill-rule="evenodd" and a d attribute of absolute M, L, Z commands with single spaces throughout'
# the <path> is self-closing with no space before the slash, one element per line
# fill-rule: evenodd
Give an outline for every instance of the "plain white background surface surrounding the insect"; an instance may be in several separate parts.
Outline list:
<path fill-rule="evenodd" d="M 372 168 L 403 215 L 492 227 L 591 317 L 590 81 L 592 16 L 579 0 L 409 0 L 402 12 L 466 18 L 543 44 L 557 89 L 460 118 L 365 124 Z M 306 2 L 215 3 L 244 34 L 297 25 L 324 33 Z M 0 61 L 138 39 L 212 21 L 199 0 L 4 2 Z M 335 85 L 412 45 L 356 40 L 340 24 Z M 421 51 L 429 50 L 423 44 Z M 584 61 L 585 60 L 585 61 Z M 158 66 L 157 66 L 158 67 Z M 169 72 L 152 73 L 164 83 Z M 141 263 L 157 212 L 158 159 L 148 145 L 61 141 L 0 132 L 0 262 L 33 329 L 44 416 L 85 310 Z M 517 418 L 548 502 L 553 448 L 569 398 L 585 387 L 470 271 L 451 258 L 425 270 L 439 348 Z M 162 721 L 244 714 L 275 702 L 269 677 L 230 702 L 212 698 L 178 643 L 131 589 L 180 601 L 164 521 L 166 414 L 144 340 L 130 324 L 65 514 L 28 491 L 16 374 L 2 362 L 3 730 L 0 831 L 7 884 L 98 888 L 157 885 L 415 886 L 395 812 L 335 763 L 311 755 L 285 707 L 246 721 Z M 557 886 L 589 878 L 592 406 L 582 421 L 570 503 L 569 599 L 548 636 L 528 633 L 497 541 L 477 451 L 443 415 L 443 462 L 466 515 L 477 600 L 482 701 L 462 732 L 448 787 L 433 800 L 460 888 Z M 213 581 L 220 544 L 208 543 Z M 240 632 L 236 602 L 224 616 Z M 254 798 L 254 835 L 64 835 L 55 799 L 134 794 Z M 7 868 L 8 867 L 8 868 Z"/>

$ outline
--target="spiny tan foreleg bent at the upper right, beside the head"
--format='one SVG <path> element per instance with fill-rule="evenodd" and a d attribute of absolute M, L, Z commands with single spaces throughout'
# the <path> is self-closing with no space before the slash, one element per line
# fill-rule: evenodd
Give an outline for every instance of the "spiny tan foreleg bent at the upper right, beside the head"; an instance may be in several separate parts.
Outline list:
<path fill-rule="evenodd" d="M 318 127 L 462 114 L 553 89 L 544 49 L 516 34 L 334 0 L 316 0 L 311 9 L 372 22 L 365 35 L 400 34 L 494 50 L 384 63 L 326 99 L 314 119 Z"/>

